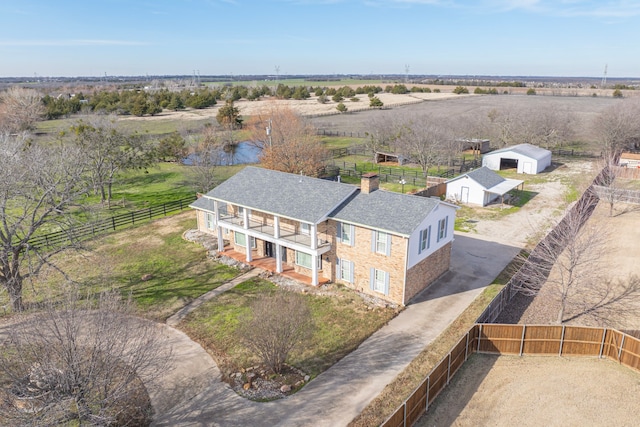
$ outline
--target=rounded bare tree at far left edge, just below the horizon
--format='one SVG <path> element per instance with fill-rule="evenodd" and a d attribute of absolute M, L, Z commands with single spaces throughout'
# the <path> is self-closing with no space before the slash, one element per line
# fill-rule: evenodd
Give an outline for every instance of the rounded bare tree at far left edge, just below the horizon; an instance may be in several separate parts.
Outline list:
<path fill-rule="evenodd" d="M 0 96 L 0 131 L 31 130 L 44 112 L 38 91 L 12 86 Z"/>

